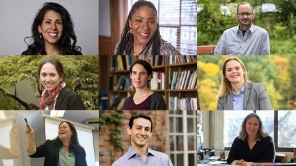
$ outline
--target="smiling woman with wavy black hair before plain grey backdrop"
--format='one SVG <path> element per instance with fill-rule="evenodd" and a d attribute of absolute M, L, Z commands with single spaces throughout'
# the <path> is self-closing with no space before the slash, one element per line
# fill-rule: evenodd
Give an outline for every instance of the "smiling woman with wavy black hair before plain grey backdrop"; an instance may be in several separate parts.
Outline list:
<path fill-rule="evenodd" d="M 36 14 L 28 49 L 22 55 L 82 55 L 68 10 L 58 3 L 47 2 Z M 30 44 L 31 43 L 31 44 Z"/>

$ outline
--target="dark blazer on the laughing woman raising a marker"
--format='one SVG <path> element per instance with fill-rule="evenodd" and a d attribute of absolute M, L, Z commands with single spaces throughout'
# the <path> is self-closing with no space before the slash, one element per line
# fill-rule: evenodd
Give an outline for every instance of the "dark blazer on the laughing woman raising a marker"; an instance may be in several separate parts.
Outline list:
<path fill-rule="evenodd" d="M 44 144 L 41 144 L 36 148 L 36 153 L 31 155 L 31 158 L 41 158 L 44 157 L 43 166 L 57 166 L 59 163 L 59 150 L 56 144 L 54 144 L 53 140 L 46 140 Z M 86 163 L 86 153 L 82 148 L 81 152 L 73 151 L 75 155 L 75 166 L 87 166 Z"/>

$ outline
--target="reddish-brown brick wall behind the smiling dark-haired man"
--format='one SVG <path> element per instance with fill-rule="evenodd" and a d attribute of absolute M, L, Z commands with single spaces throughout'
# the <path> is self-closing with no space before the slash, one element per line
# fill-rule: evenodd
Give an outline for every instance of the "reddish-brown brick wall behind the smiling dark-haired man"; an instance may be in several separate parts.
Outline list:
<path fill-rule="evenodd" d="M 114 112 L 104 111 L 102 113 L 112 115 Z M 126 128 L 130 117 L 136 113 L 145 113 L 153 120 L 153 135 L 148 141 L 150 149 L 162 151 L 169 155 L 169 112 L 164 110 L 125 111 L 123 113 L 123 126 L 120 132 L 120 138 L 124 144 L 123 151 L 115 147 L 111 142 L 111 128 L 114 128 L 114 126 L 107 126 L 99 131 L 100 166 L 110 166 L 127 151 L 130 145 L 130 135 L 127 134 Z"/>

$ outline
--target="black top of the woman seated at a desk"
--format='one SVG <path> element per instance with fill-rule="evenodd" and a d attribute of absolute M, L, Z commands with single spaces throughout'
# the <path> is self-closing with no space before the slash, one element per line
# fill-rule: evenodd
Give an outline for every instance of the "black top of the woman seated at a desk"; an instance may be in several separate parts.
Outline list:
<path fill-rule="evenodd" d="M 243 159 L 246 162 L 254 163 L 274 163 L 275 149 L 274 141 L 270 136 L 257 140 L 253 149 L 250 150 L 246 141 L 235 138 L 231 146 L 231 151 L 227 158 L 227 163 L 231 164 L 234 160 Z"/>

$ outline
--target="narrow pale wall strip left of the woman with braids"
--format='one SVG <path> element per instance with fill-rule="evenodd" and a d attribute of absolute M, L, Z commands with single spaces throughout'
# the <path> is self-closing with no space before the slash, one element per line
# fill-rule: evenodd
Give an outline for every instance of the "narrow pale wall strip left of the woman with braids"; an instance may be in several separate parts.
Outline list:
<path fill-rule="evenodd" d="M 100 0 L 99 3 L 99 34 L 104 36 L 111 36 L 110 1 Z"/>

